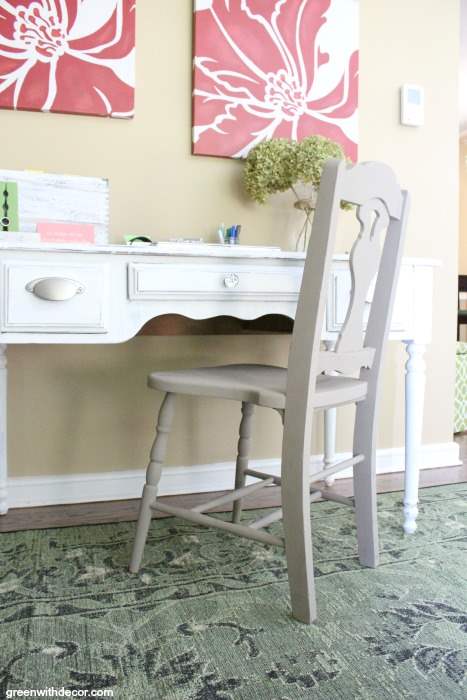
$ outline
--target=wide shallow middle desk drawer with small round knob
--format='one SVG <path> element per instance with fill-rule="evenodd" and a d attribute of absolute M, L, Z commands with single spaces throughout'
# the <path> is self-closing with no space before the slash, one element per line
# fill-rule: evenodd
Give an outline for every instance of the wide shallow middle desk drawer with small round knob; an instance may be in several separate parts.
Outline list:
<path fill-rule="evenodd" d="M 286 266 L 206 263 L 130 263 L 128 297 L 142 299 L 254 299 L 296 301 L 302 270 Z"/>

